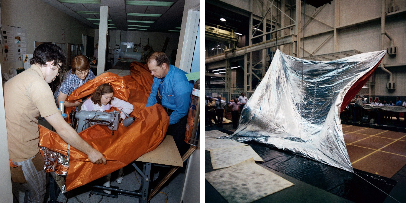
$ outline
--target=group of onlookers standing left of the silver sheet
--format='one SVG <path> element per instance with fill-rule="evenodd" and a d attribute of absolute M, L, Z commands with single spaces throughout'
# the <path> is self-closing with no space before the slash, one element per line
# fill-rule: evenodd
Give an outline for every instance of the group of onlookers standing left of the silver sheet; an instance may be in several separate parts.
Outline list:
<path fill-rule="evenodd" d="M 248 98 L 244 95 L 244 93 L 241 93 L 241 96 L 237 96 L 235 99 L 231 99 L 228 104 L 222 100 L 221 96 L 217 96 L 217 100 L 214 100 L 215 99 L 212 97 L 205 96 L 206 126 L 216 124 L 217 127 L 222 127 L 223 117 L 226 109 L 228 108 L 231 111 L 233 128 L 237 128 L 240 112 L 244 108 L 244 105 L 248 102 Z"/>

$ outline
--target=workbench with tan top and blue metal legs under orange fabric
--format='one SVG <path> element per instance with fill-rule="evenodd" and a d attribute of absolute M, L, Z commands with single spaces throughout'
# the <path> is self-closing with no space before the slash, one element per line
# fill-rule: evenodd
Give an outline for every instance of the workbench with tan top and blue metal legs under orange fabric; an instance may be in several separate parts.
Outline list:
<path fill-rule="evenodd" d="M 138 166 L 136 166 L 135 162 L 142 162 L 143 169 L 140 170 Z M 93 186 L 93 190 L 91 194 L 98 194 L 107 197 L 114 197 L 117 198 L 119 194 L 136 197 L 140 199 L 140 203 L 147 203 L 148 195 L 149 195 L 149 183 L 151 182 L 151 167 L 156 166 L 183 166 L 182 158 L 177 150 L 175 141 L 173 137 L 170 135 L 165 136 L 162 143 L 153 151 L 145 153 L 141 155 L 137 160 L 132 162 L 132 166 L 140 173 L 143 177 L 141 181 L 140 190 L 130 191 L 130 190 L 121 190 L 119 188 L 106 188 L 104 186 Z M 103 190 L 111 190 L 112 194 L 107 194 L 103 192 Z M 52 175 L 50 175 L 50 201 L 48 203 L 58 203 L 56 199 L 58 199 L 59 195 L 59 187 L 54 181 Z"/>

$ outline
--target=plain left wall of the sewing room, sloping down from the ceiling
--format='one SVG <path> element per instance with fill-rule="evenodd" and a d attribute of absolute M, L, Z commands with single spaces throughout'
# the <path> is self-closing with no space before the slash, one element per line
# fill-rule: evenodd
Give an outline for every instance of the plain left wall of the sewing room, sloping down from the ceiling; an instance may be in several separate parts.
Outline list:
<path fill-rule="evenodd" d="M 94 36 L 93 28 L 41 0 L 2 0 L 1 23 L 2 28 L 10 25 L 26 31 L 27 54 L 34 52 L 35 41 L 81 44 L 82 34 Z M 65 29 L 65 42 L 62 29 Z M 12 67 L 24 67 L 23 62 L 1 63 L 2 72 Z"/>

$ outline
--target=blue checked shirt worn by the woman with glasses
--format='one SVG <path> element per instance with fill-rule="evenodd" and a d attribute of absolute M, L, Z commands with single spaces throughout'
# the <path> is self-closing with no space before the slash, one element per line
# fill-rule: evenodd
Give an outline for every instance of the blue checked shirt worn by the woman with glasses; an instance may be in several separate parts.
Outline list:
<path fill-rule="evenodd" d="M 59 91 L 69 96 L 73 91 L 75 91 L 79 87 L 81 80 L 80 78 L 78 78 L 78 76 L 76 76 L 76 74 L 72 74 L 71 69 L 63 75 L 62 79 L 63 79 L 62 82 L 59 84 L 58 88 L 54 93 L 56 106 L 59 106 L 58 104 Z M 89 69 L 89 73 L 87 74 L 86 78 L 84 78 L 82 84 L 85 84 L 87 81 L 93 79 L 95 79 L 95 74 L 93 74 L 93 71 Z"/>

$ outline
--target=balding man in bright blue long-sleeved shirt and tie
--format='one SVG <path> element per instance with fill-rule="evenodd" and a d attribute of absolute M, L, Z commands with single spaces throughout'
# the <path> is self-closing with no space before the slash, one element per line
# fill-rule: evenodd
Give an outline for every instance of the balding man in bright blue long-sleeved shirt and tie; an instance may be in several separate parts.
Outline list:
<path fill-rule="evenodd" d="M 154 76 L 147 107 L 160 104 L 169 116 L 167 135 L 172 135 L 180 155 L 190 145 L 184 141 L 186 121 L 192 95 L 193 81 L 188 81 L 186 72 L 169 64 L 164 52 L 154 52 L 147 58 L 147 65 Z"/>

